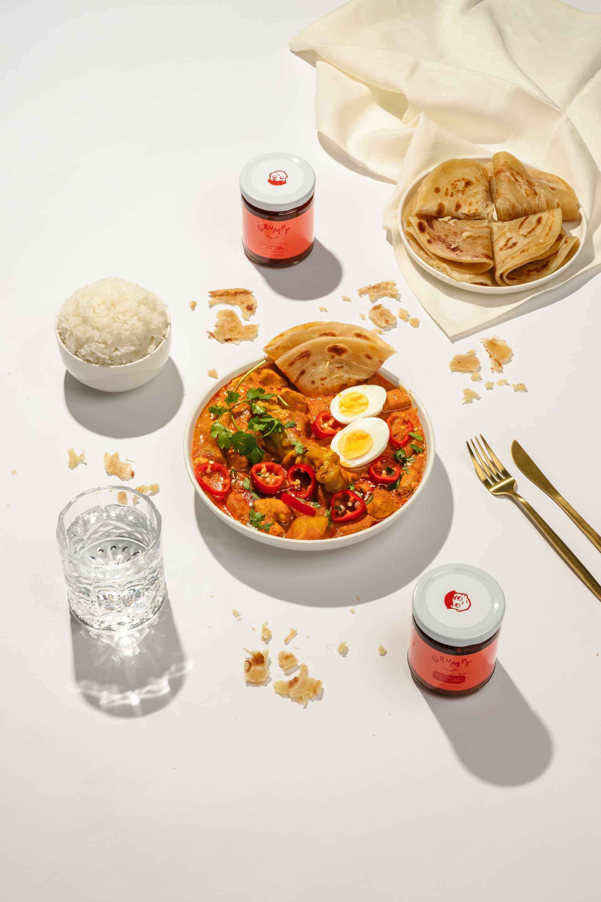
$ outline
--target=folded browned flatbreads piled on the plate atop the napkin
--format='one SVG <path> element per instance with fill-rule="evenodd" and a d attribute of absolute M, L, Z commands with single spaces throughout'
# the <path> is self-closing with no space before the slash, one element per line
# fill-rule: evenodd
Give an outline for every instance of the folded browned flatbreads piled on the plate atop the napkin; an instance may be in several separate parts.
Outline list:
<path fill-rule="evenodd" d="M 562 222 L 578 216 L 568 182 L 499 152 L 487 166 L 447 160 L 433 169 L 407 207 L 405 237 L 455 281 L 519 285 L 555 272 L 577 252 L 578 238 Z"/>

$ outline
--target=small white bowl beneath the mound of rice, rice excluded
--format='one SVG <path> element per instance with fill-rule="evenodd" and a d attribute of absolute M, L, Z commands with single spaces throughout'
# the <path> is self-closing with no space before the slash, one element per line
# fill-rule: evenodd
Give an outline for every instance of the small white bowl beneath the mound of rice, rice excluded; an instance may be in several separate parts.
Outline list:
<path fill-rule="evenodd" d="M 91 389 L 97 389 L 97 391 L 131 391 L 132 389 L 139 389 L 141 385 L 150 382 L 150 379 L 154 379 L 167 363 L 171 353 L 171 318 L 169 314 L 168 318 L 167 335 L 163 338 L 159 347 L 155 348 L 152 354 L 142 357 L 141 360 L 134 360 L 132 364 L 117 364 L 115 366 L 90 364 L 87 360 L 82 360 L 80 357 L 76 357 L 75 354 L 71 354 L 63 345 L 56 321 L 54 333 L 57 336 L 62 362 L 68 369 L 68 372 L 78 382 L 83 382 L 84 385 L 89 385 Z"/>

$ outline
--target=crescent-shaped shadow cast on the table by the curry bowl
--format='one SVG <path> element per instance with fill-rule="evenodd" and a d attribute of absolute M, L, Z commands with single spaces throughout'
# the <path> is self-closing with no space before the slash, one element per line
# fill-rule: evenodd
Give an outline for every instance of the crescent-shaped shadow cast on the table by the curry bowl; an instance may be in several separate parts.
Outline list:
<path fill-rule="evenodd" d="M 452 512 L 449 476 L 436 457 L 414 505 L 377 538 L 366 539 L 366 567 L 366 554 L 358 554 L 357 545 L 322 552 L 259 546 L 218 520 L 195 493 L 198 529 L 223 570 L 272 598 L 325 608 L 348 607 L 349 599 L 354 604 L 357 595 L 362 603 L 373 601 L 413 583 L 441 550 L 451 529 Z M 426 517 L 430 519 L 427 531 L 423 529 Z M 303 573 L 307 575 L 299 575 Z M 335 593 L 332 573 L 336 574 Z"/>

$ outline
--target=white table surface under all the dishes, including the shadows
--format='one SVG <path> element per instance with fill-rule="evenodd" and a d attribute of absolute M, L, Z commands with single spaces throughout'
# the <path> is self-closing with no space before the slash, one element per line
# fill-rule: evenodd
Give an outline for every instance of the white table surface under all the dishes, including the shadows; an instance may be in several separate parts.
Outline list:
<path fill-rule="evenodd" d="M 601 606 L 484 491 L 465 439 L 483 432 L 509 465 L 518 438 L 599 529 L 601 281 L 487 330 L 514 348 L 505 375 L 528 394 L 481 384 L 482 400 L 461 405 L 471 383 L 449 360 L 480 336 L 451 346 L 423 314 L 381 231 L 391 186 L 323 151 L 314 72 L 287 51 L 330 6 L 3 5 L 0 895 L 11 902 L 599 897 Z M 317 174 L 318 244 L 283 272 L 240 247 L 238 173 L 270 149 Z M 173 319 L 167 368 L 114 396 L 66 375 L 52 331 L 60 303 L 107 275 L 155 291 Z M 336 553 L 237 535 L 195 503 L 182 462 L 207 368 L 257 357 L 280 329 L 321 318 L 319 305 L 360 323 L 357 288 L 390 278 L 421 318 L 387 336 L 436 433 L 420 502 L 381 540 Z M 259 299 L 260 340 L 208 341 L 207 290 L 238 285 Z M 68 446 L 85 449 L 86 467 L 68 470 Z M 135 484 L 160 483 L 170 608 L 137 649 L 69 621 L 54 538 L 69 497 L 109 482 L 105 451 L 135 460 Z M 519 485 L 598 576 L 595 548 Z M 418 691 L 405 656 L 414 584 L 452 560 L 495 575 L 507 612 L 490 684 L 449 702 Z M 251 627 L 264 620 L 272 658 L 296 627 L 322 701 L 304 710 L 245 686 L 242 648 L 258 646 Z"/>

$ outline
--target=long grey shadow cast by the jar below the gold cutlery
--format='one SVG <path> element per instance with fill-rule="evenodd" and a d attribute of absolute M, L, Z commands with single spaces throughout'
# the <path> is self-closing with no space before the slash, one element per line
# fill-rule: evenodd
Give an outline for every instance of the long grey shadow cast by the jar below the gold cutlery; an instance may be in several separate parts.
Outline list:
<path fill-rule="evenodd" d="M 523 786 L 549 767 L 551 734 L 500 661 L 490 682 L 475 695 L 453 699 L 420 691 L 457 757 L 475 777 L 496 786 Z"/>

